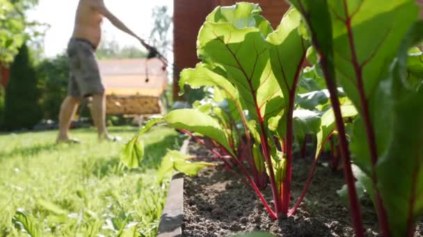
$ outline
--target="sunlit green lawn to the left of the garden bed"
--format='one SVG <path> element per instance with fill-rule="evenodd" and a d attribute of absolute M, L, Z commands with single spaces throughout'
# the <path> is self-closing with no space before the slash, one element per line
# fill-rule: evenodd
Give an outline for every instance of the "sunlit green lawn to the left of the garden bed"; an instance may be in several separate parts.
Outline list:
<path fill-rule="evenodd" d="M 111 128 L 124 141 L 135 128 Z M 24 210 L 40 236 L 118 236 L 136 226 L 155 236 L 166 185 L 156 182 L 166 148 L 179 148 L 175 131 L 143 135 L 143 168 L 127 170 L 124 143 L 99 143 L 93 129 L 72 131 L 81 144 L 55 145 L 56 131 L 0 135 L 0 236 L 22 236 L 13 217 Z M 16 216 L 18 217 L 18 216 Z"/>

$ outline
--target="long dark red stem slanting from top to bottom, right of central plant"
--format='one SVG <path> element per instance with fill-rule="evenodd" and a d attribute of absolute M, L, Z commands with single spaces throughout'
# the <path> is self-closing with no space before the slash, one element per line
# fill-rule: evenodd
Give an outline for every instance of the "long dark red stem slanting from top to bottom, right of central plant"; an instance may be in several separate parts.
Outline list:
<path fill-rule="evenodd" d="M 353 171 L 351 169 L 351 158 L 349 155 L 348 150 L 348 143 L 346 140 L 346 132 L 344 127 L 344 121 L 342 119 L 341 107 L 340 107 L 340 100 L 337 95 L 337 87 L 335 78 L 330 73 L 328 69 L 328 62 L 329 58 L 326 58 L 326 55 L 321 51 L 321 46 L 317 41 L 317 35 L 313 28 L 312 22 L 310 20 L 310 16 L 308 12 L 305 11 L 302 1 L 298 1 L 301 6 L 301 12 L 307 21 L 308 26 L 310 27 L 310 32 L 312 34 L 312 43 L 316 48 L 317 53 L 320 56 L 320 64 L 321 69 L 324 73 L 324 78 L 326 80 L 326 85 L 328 87 L 328 91 L 330 93 L 330 103 L 333 107 L 333 113 L 335 114 L 335 121 L 337 125 L 337 130 L 339 132 L 339 139 L 340 139 L 340 150 L 341 150 L 341 157 L 344 161 L 344 177 L 346 181 L 346 186 L 348 188 L 348 195 L 349 195 L 349 203 L 351 207 L 351 218 L 353 220 L 353 227 L 356 232 L 357 237 L 364 237 L 365 230 L 362 225 L 362 217 L 361 217 L 361 209 L 357 198 L 357 191 L 356 191 L 356 184 L 353 177 Z"/>

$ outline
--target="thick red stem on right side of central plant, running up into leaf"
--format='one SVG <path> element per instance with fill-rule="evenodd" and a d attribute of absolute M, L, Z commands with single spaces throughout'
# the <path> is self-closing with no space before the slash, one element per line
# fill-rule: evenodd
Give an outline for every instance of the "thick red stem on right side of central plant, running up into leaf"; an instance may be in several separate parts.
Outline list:
<path fill-rule="evenodd" d="M 303 42 L 301 42 L 303 44 Z M 303 45 L 303 55 L 301 60 L 298 63 L 296 68 L 294 83 L 292 84 L 291 89 L 289 90 L 289 106 L 288 106 L 288 116 L 287 116 L 287 134 L 285 136 L 285 149 L 286 149 L 286 159 L 287 159 L 287 170 L 285 173 L 285 178 L 282 182 L 282 213 L 286 216 L 289 210 L 289 202 L 291 200 L 291 182 L 292 182 L 292 140 L 293 140 L 293 116 L 294 116 L 294 103 L 296 96 L 296 86 L 298 85 L 298 79 L 301 73 L 301 65 L 305 60 L 305 49 Z M 289 89 L 289 88 L 288 88 Z"/>

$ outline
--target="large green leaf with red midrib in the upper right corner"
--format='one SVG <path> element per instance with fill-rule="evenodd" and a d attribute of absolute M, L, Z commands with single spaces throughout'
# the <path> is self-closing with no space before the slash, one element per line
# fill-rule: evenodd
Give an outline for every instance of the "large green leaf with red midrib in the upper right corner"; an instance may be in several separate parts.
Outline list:
<path fill-rule="evenodd" d="M 362 108 L 360 80 L 369 99 L 381 74 L 387 71 L 411 24 L 417 19 L 412 0 L 348 1 L 329 0 L 333 21 L 333 49 L 337 79 L 358 111 Z M 345 12 L 348 9 L 348 12 Z M 351 19 L 351 31 L 345 19 Z M 350 40 L 349 32 L 353 34 Z M 369 32 L 372 40 L 369 40 Z M 354 56 L 356 55 L 356 56 Z"/>

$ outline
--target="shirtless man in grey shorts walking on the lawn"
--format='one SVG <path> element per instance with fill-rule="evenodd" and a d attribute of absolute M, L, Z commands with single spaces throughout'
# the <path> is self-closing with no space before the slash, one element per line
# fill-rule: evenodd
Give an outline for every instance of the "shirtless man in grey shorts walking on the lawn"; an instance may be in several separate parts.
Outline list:
<path fill-rule="evenodd" d="M 103 17 L 123 32 L 132 35 L 149 51 L 153 48 L 145 44 L 134 32 L 115 17 L 104 5 L 103 0 L 79 0 L 75 17 L 74 32 L 67 46 L 69 56 L 70 79 L 67 87 L 67 96 L 61 105 L 59 114 L 59 132 L 57 142 L 77 142 L 68 137 L 68 130 L 72 117 L 82 98 L 91 97 L 91 116 L 97 128 L 100 140 L 115 140 L 106 130 L 106 96 L 99 74 L 95 49 L 101 38 L 101 23 Z"/>

